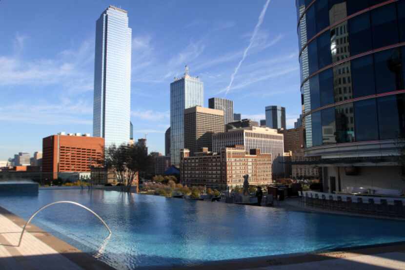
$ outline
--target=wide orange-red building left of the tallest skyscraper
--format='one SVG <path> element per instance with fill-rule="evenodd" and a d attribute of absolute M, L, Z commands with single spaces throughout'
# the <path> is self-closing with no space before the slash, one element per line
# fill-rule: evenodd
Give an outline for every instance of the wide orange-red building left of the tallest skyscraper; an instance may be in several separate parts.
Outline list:
<path fill-rule="evenodd" d="M 80 133 L 60 133 L 42 139 L 42 172 L 57 179 L 61 172 L 89 172 L 104 159 L 104 139 Z"/>

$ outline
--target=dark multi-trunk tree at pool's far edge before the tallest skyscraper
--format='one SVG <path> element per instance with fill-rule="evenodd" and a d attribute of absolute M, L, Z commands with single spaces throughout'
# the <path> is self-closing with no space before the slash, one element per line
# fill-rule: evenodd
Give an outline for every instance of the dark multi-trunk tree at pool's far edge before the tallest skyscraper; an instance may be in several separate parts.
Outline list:
<path fill-rule="evenodd" d="M 147 154 L 144 145 L 111 145 L 106 150 L 105 166 L 112 168 L 121 191 L 130 192 L 135 176 L 153 164 L 153 157 Z M 137 183 L 139 185 L 139 183 Z"/>

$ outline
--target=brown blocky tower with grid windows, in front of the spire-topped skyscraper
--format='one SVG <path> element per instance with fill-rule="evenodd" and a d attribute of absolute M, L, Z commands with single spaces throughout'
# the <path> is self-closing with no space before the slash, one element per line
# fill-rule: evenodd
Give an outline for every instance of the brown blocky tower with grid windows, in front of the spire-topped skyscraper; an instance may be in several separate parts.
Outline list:
<path fill-rule="evenodd" d="M 212 150 L 212 135 L 224 131 L 223 115 L 223 110 L 200 106 L 184 110 L 184 148 L 190 155 L 203 147 Z"/>

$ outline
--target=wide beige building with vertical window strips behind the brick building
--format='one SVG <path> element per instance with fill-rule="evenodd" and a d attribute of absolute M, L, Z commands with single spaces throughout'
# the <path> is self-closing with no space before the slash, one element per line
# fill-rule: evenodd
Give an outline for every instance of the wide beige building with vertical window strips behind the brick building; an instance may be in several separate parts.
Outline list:
<path fill-rule="evenodd" d="M 260 149 L 263 154 L 270 154 L 272 160 L 273 178 L 284 176 L 284 135 L 277 129 L 268 127 L 244 127 L 230 129 L 227 132 L 217 133 L 212 136 L 212 150 L 220 152 L 221 149 L 231 145 L 243 145 L 245 151 Z"/>

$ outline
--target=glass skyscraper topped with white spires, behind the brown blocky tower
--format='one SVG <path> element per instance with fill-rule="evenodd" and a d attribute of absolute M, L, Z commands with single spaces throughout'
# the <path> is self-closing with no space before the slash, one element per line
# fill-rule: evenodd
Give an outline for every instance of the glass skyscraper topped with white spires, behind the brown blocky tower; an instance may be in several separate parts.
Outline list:
<path fill-rule="evenodd" d="M 180 165 L 180 149 L 184 148 L 184 109 L 204 105 L 204 84 L 198 77 L 188 75 L 170 83 L 170 156 L 171 163 Z"/>

